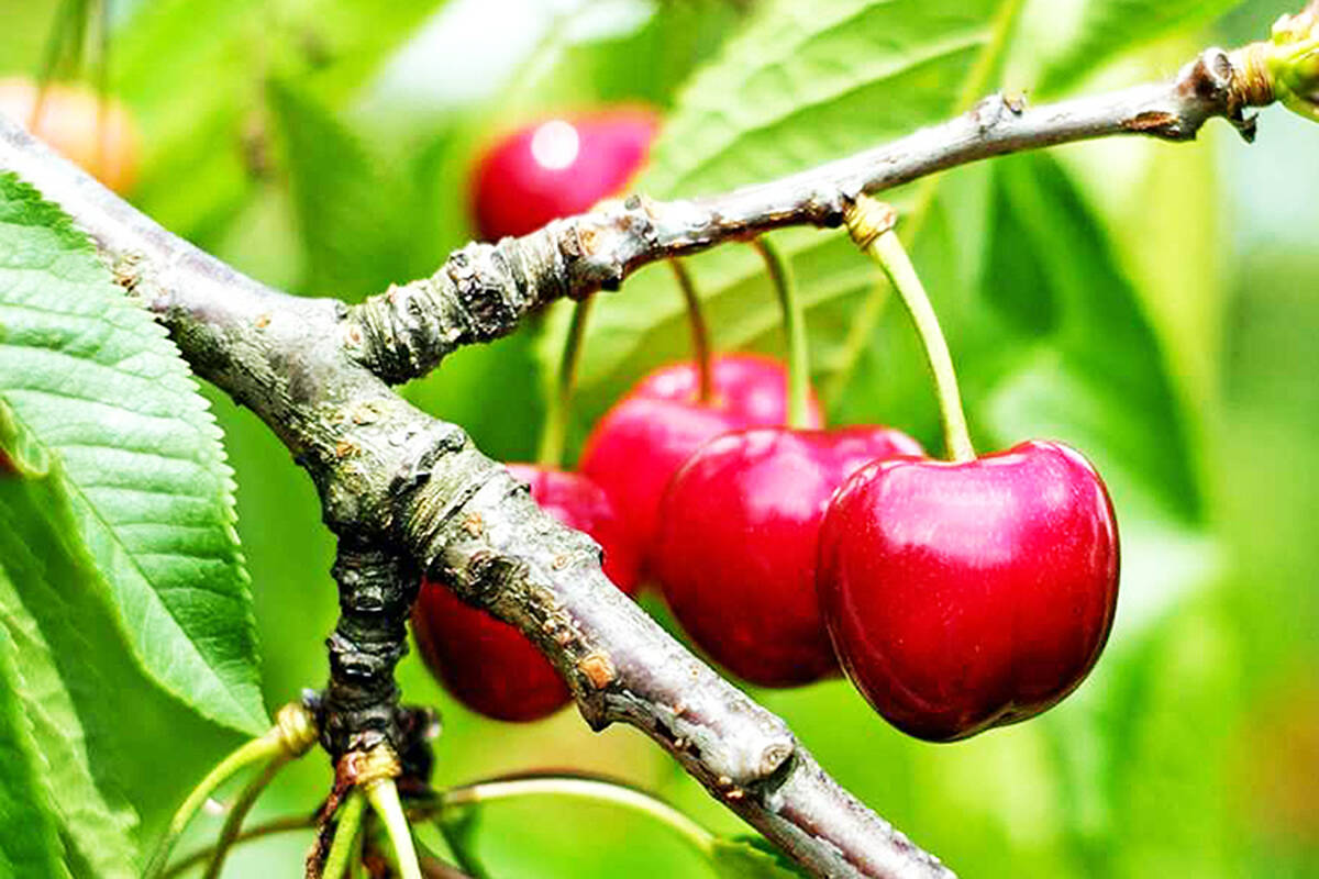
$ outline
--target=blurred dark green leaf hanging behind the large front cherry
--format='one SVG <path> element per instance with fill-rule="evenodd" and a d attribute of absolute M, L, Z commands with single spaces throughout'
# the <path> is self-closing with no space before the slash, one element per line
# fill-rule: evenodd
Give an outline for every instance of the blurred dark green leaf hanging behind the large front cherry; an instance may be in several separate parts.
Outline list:
<path fill-rule="evenodd" d="M 1059 439 L 1113 498 L 1122 596 L 1113 643 L 1207 582 L 1217 557 L 1190 418 L 1167 356 L 1088 203 L 1045 153 L 995 165 L 983 294 L 959 374 L 985 448 Z"/>

